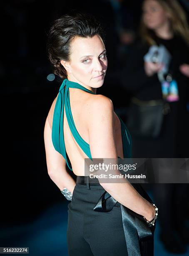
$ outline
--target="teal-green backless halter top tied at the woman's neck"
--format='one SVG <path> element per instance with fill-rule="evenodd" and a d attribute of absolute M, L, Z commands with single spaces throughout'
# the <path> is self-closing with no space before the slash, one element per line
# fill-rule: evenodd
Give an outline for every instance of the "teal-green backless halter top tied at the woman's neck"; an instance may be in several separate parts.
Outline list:
<path fill-rule="evenodd" d="M 72 166 L 70 163 L 70 159 L 67 156 L 66 148 L 65 148 L 65 141 L 64 141 L 64 131 L 63 131 L 63 121 L 64 121 L 64 106 L 65 106 L 65 113 L 68 125 L 70 127 L 70 131 L 74 136 L 75 140 L 77 141 L 80 148 L 85 152 L 85 154 L 92 160 L 91 152 L 90 152 L 90 145 L 82 139 L 80 134 L 75 127 L 75 123 L 72 116 L 72 111 L 70 108 L 70 92 L 69 87 L 77 88 L 83 90 L 85 92 L 89 92 L 91 94 L 95 94 L 94 92 L 88 90 L 84 86 L 76 83 L 71 82 L 65 79 L 59 89 L 59 93 L 57 96 L 57 101 L 55 104 L 55 110 L 53 114 L 53 121 L 52 121 L 52 143 L 55 147 L 55 150 L 58 151 L 66 160 L 67 166 L 72 171 Z M 119 115 L 117 115 L 119 117 Z M 122 130 L 122 143 L 123 143 L 123 154 L 124 158 L 131 157 L 131 136 L 129 131 L 127 130 L 126 125 L 119 117 L 121 123 L 121 130 Z"/>

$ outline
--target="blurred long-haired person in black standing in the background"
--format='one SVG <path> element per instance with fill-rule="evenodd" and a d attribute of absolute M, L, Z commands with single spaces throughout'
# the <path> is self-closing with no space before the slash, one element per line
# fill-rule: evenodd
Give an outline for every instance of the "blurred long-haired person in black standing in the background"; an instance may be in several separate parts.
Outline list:
<path fill-rule="evenodd" d="M 160 45 L 171 56 L 164 73 L 165 65 L 155 58 L 144 61 L 150 47 Z M 140 38 L 130 48 L 119 74 L 120 83 L 133 96 L 127 118 L 133 157 L 188 157 L 188 77 L 189 27 L 183 8 L 176 0 L 144 0 Z M 169 95 L 165 85 L 172 88 Z M 183 253 L 189 243 L 189 230 L 184 225 L 188 184 L 153 184 L 153 188 L 161 208 L 160 238 L 168 251 Z"/>

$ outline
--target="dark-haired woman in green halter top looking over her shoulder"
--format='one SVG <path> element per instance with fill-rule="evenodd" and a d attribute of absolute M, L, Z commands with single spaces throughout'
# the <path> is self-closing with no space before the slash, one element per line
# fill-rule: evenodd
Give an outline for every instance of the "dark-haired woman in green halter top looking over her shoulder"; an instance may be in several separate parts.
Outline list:
<path fill-rule="evenodd" d="M 157 218 L 157 208 L 139 184 L 135 187 L 143 197 L 126 179 L 119 184 L 85 179 L 85 158 L 117 159 L 131 152 L 129 132 L 112 101 L 96 94 L 107 70 L 100 24 L 91 15 L 62 16 L 50 28 L 48 53 L 55 73 L 64 79 L 48 113 L 44 139 L 48 174 L 72 199 L 69 255 L 153 255 L 155 226 L 147 220 Z M 76 183 L 66 164 L 77 176 Z"/>

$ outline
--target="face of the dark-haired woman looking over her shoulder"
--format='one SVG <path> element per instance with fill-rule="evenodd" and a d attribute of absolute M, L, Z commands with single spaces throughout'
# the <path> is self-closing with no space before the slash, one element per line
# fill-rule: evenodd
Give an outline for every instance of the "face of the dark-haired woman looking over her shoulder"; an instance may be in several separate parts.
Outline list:
<path fill-rule="evenodd" d="M 102 38 L 75 37 L 70 47 L 67 78 L 85 87 L 98 88 L 104 83 L 107 70 L 106 49 Z"/>

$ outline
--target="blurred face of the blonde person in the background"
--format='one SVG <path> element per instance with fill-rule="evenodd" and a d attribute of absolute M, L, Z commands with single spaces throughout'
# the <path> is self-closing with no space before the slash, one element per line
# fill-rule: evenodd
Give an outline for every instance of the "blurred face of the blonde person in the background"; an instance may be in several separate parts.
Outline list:
<path fill-rule="evenodd" d="M 168 21 L 166 11 L 155 0 L 145 0 L 142 10 L 144 24 L 149 29 L 159 29 Z"/>

